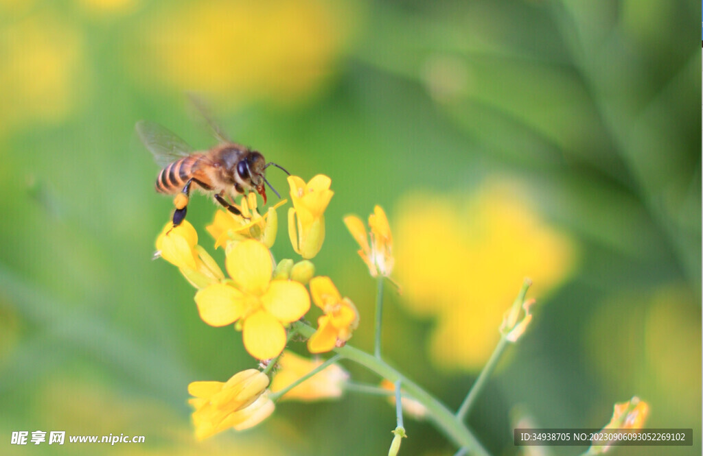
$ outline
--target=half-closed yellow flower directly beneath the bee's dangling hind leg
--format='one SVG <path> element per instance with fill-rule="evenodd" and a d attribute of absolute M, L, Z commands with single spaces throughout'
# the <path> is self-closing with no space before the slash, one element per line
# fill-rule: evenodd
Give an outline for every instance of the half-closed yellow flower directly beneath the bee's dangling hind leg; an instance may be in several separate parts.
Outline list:
<path fill-rule="evenodd" d="M 169 222 L 156 239 L 156 254 L 178 267 L 183 277 L 196 288 L 205 288 L 224 279 L 217 263 L 198 245 L 198 233 L 183 221 L 174 228 Z"/>

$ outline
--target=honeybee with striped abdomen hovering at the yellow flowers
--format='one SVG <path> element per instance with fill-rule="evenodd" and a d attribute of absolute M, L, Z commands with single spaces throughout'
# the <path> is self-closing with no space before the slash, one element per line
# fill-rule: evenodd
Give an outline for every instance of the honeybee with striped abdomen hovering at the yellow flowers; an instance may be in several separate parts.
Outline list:
<path fill-rule="evenodd" d="M 207 121 L 219 144 L 202 151 L 193 150 L 186 141 L 159 124 L 141 120 L 135 126 L 141 142 L 162 167 L 156 179 L 156 191 L 176 195 L 174 227 L 186 219 L 193 185 L 205 193 L 212 194 L 214 200 L 228 211 L 240 215 L 241 212 L 234 204 L 234 197 L 255 190 L 262 195 L 266 204 L 264 183 L 280 198 L 269 181 L 266 181 L 266 168 L 273 165 L 290 175 L 278 164 L 266 163 L 264 156 L 257 150 L 233 143 L 212 121 Z"/>

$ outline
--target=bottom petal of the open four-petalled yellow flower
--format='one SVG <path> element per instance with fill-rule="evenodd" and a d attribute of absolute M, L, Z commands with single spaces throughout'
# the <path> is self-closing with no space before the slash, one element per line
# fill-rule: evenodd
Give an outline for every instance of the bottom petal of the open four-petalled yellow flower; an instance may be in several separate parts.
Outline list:
<path fill-rule="evenodd" d="M 273 315 L 258 311 L 243 324 L 244 348 L 259 360 L 276 358 L 285 347 L 285 330 Z"/>

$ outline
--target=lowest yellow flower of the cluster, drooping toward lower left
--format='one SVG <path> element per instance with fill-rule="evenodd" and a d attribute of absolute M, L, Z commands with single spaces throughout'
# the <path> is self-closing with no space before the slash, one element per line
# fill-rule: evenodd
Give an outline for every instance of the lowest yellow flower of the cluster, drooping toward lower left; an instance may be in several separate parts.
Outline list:
<path fill-rule="evenodd" d="M 202 440 L 225 429 L 247 429 L 273 413 L 266 394 L 269 377 L 256 369 L 234 374 L 227 382 L 193 382 L 188 393 L 193 398 L 195 436 Z"/>

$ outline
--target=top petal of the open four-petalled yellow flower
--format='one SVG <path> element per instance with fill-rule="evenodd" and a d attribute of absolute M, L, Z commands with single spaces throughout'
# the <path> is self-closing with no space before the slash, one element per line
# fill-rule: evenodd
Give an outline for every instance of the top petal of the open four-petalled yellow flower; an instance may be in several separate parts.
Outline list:
<path fill-rule="evenodd" d="M 251 239 L 239 242 L 227 254 L 225 266 L 239 289 L 259 295 L 266 291 L 273 272 L 269 249 Z"/>

